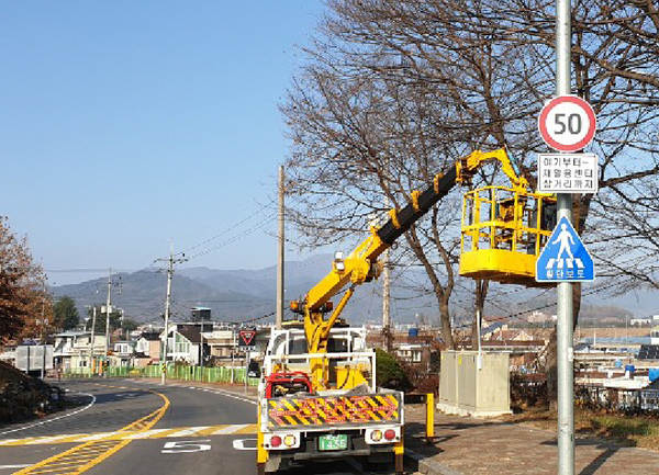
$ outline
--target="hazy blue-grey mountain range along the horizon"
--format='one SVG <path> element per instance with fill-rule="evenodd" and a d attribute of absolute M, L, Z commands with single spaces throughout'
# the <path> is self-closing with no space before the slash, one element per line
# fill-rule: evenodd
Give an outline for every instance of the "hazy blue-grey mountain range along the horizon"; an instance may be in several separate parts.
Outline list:
<path fill-rule="evenodd" d="M 303 296 L 331 269 L 331 255 L 317 255 L 299 261 L 287 261 L 284 268 L 286 299 Z M 431 292 L 427 278 L 421 270 L 407 269 L 403 275 L 393 272 L 392 313 L 395 323 L 418 323 L 426 319 L 437 323 L 437 304 Z M 161 324 L 165 312 L 167 275 L 164 269 L 145 269 L 133 273 L 112 276 L 112 304 L 124 310 L 126 316 L 138 323 Z M 524 310 L 547 307 L 548 314 L 555 296 L 551 293 L 537 296 L 537 291 L 523 287 L 496 286 L 491 291 L 491 304 L 485 306 L 488 315 L 510 315 Z M 174 321 L 190 318 L 192 307 L 209 307 L 213 320 L 245 321 L 259 318 L 272 321 L 276 310 L 277 268 L 259 270 L 219 270 L 203 267 L 177 269 L 172 280 L 171 317 Z M 76 301 L 80 315 L 86 306 L 105 304 L 108 279 L 96 279 L 79 284 L 53 287 L 55 297 L 68 295 Z M 536 293 L 534 293 L 536 292 Z M 640 296 L 639 296 L 640 295 Z M 336 301 L 337 298 L 335 298 Z M 584 304 L 595 304 L 584 291 Z M 451 314 L 460 320 L 472 312 L 471 291 L 468 285 L 457 285 L 451 296 Z M 636 316 L 658 313 L 651 293 L 629 294 L 616 298 L 601 298 L 597 305 L 619 306 Z M 264 316 L 267 318 L 263 318 Z M 343 315 L 355 324 L 380 323 L 382 318 L 381 282 L 371 282 L 357 287 Z M 623 318 L 625 318 L 623 316 Z"/>

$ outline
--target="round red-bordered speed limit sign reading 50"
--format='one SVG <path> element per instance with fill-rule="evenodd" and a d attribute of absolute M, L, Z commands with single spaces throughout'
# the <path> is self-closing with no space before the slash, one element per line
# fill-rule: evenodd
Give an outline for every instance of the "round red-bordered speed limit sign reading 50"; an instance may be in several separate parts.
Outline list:
<path fill-rule="evenodd" d="M 595 136 L 593 108 L 577 95 L 554 98 L 543 108 L 538 120 L 540 136 L 558 151 L 577 151 Z"/>

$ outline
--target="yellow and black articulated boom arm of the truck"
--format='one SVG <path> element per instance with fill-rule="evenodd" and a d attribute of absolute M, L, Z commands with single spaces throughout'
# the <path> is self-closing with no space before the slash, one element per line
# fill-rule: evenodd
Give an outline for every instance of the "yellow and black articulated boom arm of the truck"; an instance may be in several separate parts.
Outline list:
<path fill-rule="evenodd" d="M 304 314 L 304 328 L 309 351 L 325 352 L 330 329 L 336 323 L 345 304 L 353 295 L 354 287 L 380 275 L 378 257 L 410 227 L 425 215 L 439 200 L 456 185 L 469 183 L 483 162 L 496 160 L 502 171 L 511 179 L 513 186 L 528 186 L 528 182 L 520 177 L 504 149 L 490 152 L 473 151 L 458 160 L 445 173 L 435 176 L 433 184 L 423 192 L 413 191 L 410 203 L 402 210 L 389 211 L 389 219 L 380 228 L 371 228 L 370 236 L 361 242 L 345 260 L 335 260 L 332 272 L 309 291 L 302 302 L 291 303 L 291 308 Z M 325 320 L 323 314 L 326 305 L 343 287 L 351 283 L 332 316 Z"/>

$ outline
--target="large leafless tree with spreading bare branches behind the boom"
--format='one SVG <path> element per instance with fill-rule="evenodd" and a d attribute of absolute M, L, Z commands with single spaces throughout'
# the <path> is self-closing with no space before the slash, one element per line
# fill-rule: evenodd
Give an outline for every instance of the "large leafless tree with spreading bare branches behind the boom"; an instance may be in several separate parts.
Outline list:
<path fill-rule="evenodd" d="M 536 121 L 555 93 L 554 1 L 328 4 L 282 106 L 293 143 L 294 218 L 308 245 L 361 231 L 383 211 L 382 195 L 400 207 L 474 148 L 507 147 L 535 183 L 536 154 L 546 151 Z M 651 185 L 659 173 L 658 24 L 651 0 L 573 5 L 573 90 L 597 113 L 592 149 L 601 157 L 601 192 L 578 196 L 576 214 L 607 275 L 656 272 L 648 258 L 656 252 L 651 203 L 659 191 Z M 480 180 L 499 180 L 496 169 Z M 433 284 L 447 342 L 459 253 L 459 199 L 451 197 L 405 235 Z M 627 270 L 632 258 L 644 271 Z"/>

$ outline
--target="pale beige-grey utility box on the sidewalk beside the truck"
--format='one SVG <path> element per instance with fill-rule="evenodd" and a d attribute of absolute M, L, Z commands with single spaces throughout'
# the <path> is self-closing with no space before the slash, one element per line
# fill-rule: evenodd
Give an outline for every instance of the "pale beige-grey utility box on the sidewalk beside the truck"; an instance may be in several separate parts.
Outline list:
<path fill-rule="evenodd" d="M 443 351 L 437 409 L 460 416 L 511 412 L 507 353 Z"/>

